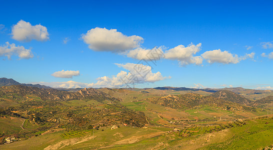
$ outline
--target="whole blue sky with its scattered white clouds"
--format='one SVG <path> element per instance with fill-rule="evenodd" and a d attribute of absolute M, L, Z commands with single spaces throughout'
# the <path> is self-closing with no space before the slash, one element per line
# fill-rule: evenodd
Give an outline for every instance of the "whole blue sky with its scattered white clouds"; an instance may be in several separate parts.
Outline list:
<path fill-rule="evenodd" d="M 5 0 L 0 14 L 0 76 L 22 83 L 273 89 L 272 0 Z"/>

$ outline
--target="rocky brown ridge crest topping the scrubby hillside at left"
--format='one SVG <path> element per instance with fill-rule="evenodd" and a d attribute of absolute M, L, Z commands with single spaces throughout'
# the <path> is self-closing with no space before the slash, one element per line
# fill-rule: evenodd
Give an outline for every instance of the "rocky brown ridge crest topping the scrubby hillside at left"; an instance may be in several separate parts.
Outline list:
<path fill-rule="evenodd" d="M 0 87 L 0 97 L 5 96 L 10 99 L 25 99 L 27 95 L 36 95 L 43 100 L 96 100 L 102 102 L 104 100 L 117 100 L 102 91 L 94 88 L 84 88 L 77 92 L 69 92 L 53 88 L 38 88 L 24 85 L 9 85 Z"/>

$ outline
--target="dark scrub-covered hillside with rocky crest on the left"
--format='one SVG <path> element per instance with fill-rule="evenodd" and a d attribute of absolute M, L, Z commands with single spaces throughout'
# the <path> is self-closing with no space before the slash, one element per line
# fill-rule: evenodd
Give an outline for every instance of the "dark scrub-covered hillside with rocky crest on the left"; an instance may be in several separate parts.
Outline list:
<path fill-rule="evenodd" d="M 23 85 L 1 86 L 0 107 L 0 117 L 26 118 L 38 125 L 36 131 L 123 123 L 142 127 L 147 123 L 143 112 L 129 109 L 118 99 L 94 88 L 68 92 Z M 33 136 L 31 132 L 19 135 Z"/>

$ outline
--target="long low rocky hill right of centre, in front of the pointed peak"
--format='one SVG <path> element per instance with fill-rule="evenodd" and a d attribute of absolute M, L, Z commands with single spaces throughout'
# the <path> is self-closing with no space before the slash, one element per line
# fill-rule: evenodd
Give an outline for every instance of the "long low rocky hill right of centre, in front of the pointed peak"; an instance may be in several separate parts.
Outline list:
<path fill-rule="evenodd" d="M 213 96 L 204 96 L 196 93 L 151 97 L 146 98 L 145 100 L 148 100 L 154 104 L 160 104 L 180 110 L 190 109 L 194 107 L 203 107 L 205 105 L 215 106 L 221 109 L 230 109 L 232 111 L 249 109 L 249 107 L 240 105 L 235 102 L 226 101 Z"/>

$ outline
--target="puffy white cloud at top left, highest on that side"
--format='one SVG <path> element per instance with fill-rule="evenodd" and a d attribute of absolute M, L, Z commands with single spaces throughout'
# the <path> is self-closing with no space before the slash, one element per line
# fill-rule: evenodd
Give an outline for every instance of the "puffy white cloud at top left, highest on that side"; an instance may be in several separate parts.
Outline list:
<path fill-rule="evenodd" d="M 31 25 L 29 22 L 20 20 L 12 26 L 12 38 L 19 41 L 30 41 L 36 39 L 44 41 L 49 39 L 47 28 L 40 24 Z"/>

